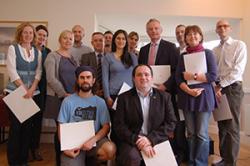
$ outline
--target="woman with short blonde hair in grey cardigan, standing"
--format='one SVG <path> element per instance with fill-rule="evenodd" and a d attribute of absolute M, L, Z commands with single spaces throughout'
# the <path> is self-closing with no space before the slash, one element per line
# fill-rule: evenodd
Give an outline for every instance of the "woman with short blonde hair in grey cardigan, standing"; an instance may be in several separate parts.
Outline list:
<path fill-rule="evenodd" d="M 48 54 L 45 60 L 47 79 L 47 98 L 44 112 L 45 118 L 52 118 L 57 123 L 61 101 L 74 93 L 75 69 L 78 64 L 70 53 L 74 34 L 64 30 L 59 36 L 59 49 Z M 56 163 L 60 165 L 60 143 L 55 133 Z"/>

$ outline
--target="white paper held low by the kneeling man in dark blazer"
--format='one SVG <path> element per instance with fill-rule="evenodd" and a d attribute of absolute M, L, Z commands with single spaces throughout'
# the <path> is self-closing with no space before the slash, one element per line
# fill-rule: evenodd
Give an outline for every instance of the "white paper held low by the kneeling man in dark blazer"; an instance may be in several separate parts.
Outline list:
<path fill-rule="evenodd" d="M 170 146 L 169 141 L 162 142 L 154 146 L 156 155 L 153 158 L 148 158 L 143 152 L 142 157 L 146 166 L 177 166 L 174 153 Z"/>

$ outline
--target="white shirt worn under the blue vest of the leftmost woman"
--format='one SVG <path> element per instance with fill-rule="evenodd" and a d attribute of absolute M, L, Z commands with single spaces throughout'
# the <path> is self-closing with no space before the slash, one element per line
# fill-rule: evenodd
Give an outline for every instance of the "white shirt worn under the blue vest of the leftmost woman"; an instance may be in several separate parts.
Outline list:
<path fill-rule="evenodd" d="M 18 44 L 18 48 L 20 50 L 22 58 L 27 62 L 32 62 L 35 59 L 35 50 L 34 47 L 32 47 L 30 51 L 30 56 L 27 53 L 26 49 L 23 48 L 21 45 Z M 16 70 L 16 53 L 15 53 L 15 47 L 11 45 L 8 49 L 8 55 L 7 55 L 7 70 L 10 77 L 10 81 L 16 81 L 17 79 L 20 79 L 20 76 L 17 73 Z M 36 68 L 36 74 L 35 79 L 40 80 L 42 75 L 42 55 L 41 52 L 38 50 L 38 63 Z"/>

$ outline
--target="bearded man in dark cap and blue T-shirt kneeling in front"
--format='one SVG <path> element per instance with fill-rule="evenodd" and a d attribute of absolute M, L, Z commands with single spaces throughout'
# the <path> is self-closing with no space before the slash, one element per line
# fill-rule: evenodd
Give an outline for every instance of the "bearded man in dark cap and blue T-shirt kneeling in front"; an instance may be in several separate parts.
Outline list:
<path fill-rule="evenodd" d="M 64 99 L 58 122 L 62 124 L 94 120 L 96 135 L 86 141 L 79 149 L 63 151 L 61 165 L 85 166 L 85 156 L 88 156 L 88 159 L 94 159 L 88 160 L 94 161 L 90 165 L 112 160 L 115 156 L 116 147 L 107 139 L 110 130 L 108 109 L 105 101 L 93 95 L 92 92 L 95 83 L 95 70 L 91 66 L 80 66 L 76 69 L 75 75 L 76 92 Z M 58 131 L 60 131 L 60 127 Z"/>

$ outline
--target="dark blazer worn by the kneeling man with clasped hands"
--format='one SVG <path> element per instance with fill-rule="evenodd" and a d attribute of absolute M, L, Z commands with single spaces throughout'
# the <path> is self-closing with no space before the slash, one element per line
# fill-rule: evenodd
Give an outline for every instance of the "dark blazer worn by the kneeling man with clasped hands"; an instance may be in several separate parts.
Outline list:
<path fill-rule="evenodd" d="M 118 97 L 114 118 L 114 130 L 121 143 L 135 145 L 143 123 L 139 96 L 135 88 Z M 168 93 L 153 89 L 150 97 L 148 135 L 152 146 L 168 139 L 175 129 L 176 118 Z"/>

